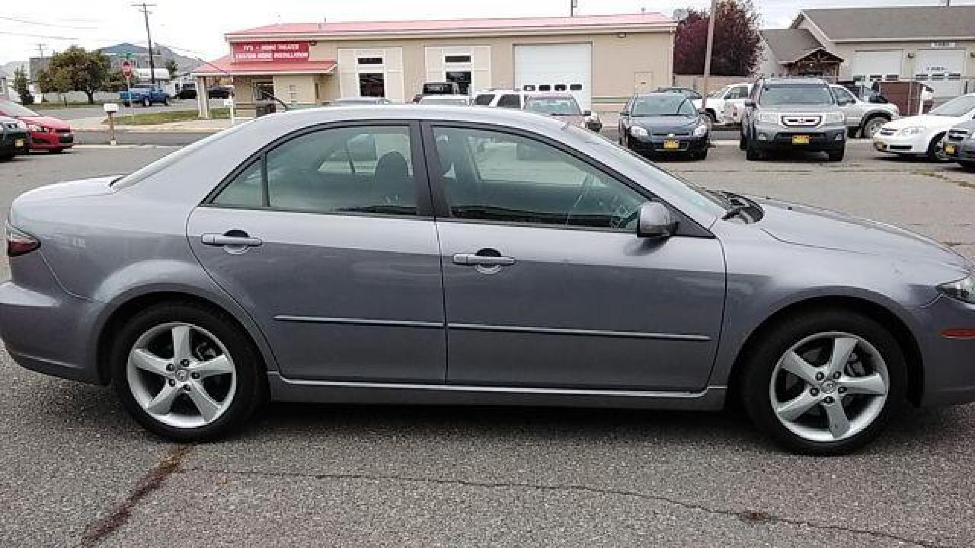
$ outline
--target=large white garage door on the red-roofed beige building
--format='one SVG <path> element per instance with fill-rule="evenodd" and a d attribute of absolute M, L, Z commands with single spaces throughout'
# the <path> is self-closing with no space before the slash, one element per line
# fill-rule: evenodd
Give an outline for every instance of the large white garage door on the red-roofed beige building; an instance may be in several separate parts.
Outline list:
<path fill-rule="evenodd" d="M 529 92 L 570 92 L 583 109 L 593 99 L 592 44 L 515 46 L 515 86 Z"/>

